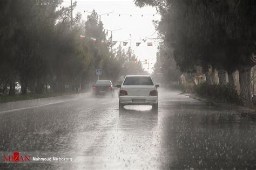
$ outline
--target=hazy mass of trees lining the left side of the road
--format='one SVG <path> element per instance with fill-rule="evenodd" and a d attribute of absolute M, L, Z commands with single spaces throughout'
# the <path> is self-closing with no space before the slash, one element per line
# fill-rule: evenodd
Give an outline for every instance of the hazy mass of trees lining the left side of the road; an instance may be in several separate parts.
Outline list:
<path fill-rule="evenodd" d="M 95 11 L 86 22 L 79 13 L 71 20 L 71 7 L 61 4 L 60 0 L 0 1 L 0 93 L 14 95 L 15 82 L 21 84 L 22 94 L 44 93 L 48 87 L 58 93 L 80 91 L 97 79 L 96 69 L 103 70 L 101 79 L 118 79 L 130 54 L 110 52 L 111 42 Z M 129 52 L 138 63 L 132 70 L 142 72 Z"/>

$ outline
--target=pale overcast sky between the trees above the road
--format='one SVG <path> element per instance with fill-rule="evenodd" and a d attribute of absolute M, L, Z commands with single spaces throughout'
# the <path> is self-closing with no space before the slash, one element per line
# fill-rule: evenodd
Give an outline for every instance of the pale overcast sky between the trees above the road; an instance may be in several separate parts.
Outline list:
<path fill-rule="evenodd" d="M 72 1 L 75 2 L 75 0 Z M 113 32 L 113 40 L 123 41 L 129 39 L 127 40 L 129 44 L 122 46 L 122 48 L 127 48 L 130 46 L 129 34 L 131 34 L 131 47 L 139 60 L 144 61 L 145 59 L 150 59 L 150 63 L 156 62 L 158 40 L 147 39 L 146 42 L 153 42 L 153 46 L 147 46 L 146 42 L 144 43 L 142 41 L 145 37 L 157 38 L 157 32 L 152 20 L 159 20 L 160 16 L 157 14 L 155 8 L 152 8 L 151 6 L 138 8 L 134 5 L 133 0 L 78 0 L 76 2 L 77 7 L 73 13 L 82 13 L 84 20 L 86 20 L 87 15 L 90 15 L 90 13 L 84 11 L 92 11 L 95 9 L 99 15 L 114 11 L 109 14 L 109 16 L 101 16 L 105 29 L 122 29 Z M 70 0 L 64 0 L 62 6 L 69 5 Z M 136 47 L 136 42 L 142 42 L 142 44 L 140 44 L 139 47 Z M 119 44 L 120 42 L 117 43 L 114 48 L 117 48 Z M 151 67 L 153 67 L 153 64 Z M 146 66 L 144 68 L 147 70 Z M 150 72 L 152 72 L 152 70 L 150 70 Z"/>

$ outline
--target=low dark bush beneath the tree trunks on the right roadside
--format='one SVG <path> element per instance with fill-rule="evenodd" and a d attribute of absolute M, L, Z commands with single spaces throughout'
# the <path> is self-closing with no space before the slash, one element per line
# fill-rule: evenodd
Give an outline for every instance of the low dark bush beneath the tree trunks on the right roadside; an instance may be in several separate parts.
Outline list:
<path fill-rule="evenodd" d="M 195 92 L 204 97 L 210 97 L 213 100 L 218 100 L 220 102 L 235 103 L 238 105 L 243 105 L 243 100 L 240 95 L 238 95 L 237 90 L 230 84 L 220 86 L 220 85 L 209 85 L 207 83 L 198 84 L 194 88 Z"/>

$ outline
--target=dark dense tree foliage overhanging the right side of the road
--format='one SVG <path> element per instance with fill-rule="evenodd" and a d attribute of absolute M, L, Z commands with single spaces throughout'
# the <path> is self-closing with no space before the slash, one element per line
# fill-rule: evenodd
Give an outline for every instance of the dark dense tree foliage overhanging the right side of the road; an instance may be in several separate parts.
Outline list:
<path fill-rule="evenodd" d="M 136 5 L 156 6 L 161 20 L 160 37 L 170 49 L 181 72 L 192 73 L 200 66 L 208 84 L 210 70 L 217 69 L 225 84 L 223 70 L 232 76 L 239 70 L 241 95 L 251 106 L 250 72 L 256 52 L 256 3 L 254 0 L 136 0 Z M 172 75 L 170 75 L 172 76 Z"/>

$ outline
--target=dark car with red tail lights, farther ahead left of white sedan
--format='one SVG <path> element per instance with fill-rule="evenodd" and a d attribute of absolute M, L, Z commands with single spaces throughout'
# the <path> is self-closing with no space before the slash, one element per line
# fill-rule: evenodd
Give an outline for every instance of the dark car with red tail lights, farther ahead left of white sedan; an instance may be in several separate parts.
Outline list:
<path fill-rule="evenodd" d="M 113 84 L 110 80 L 97 80 L 92 86 L 92 92 L 96 96 L 114 95 Z"/>

